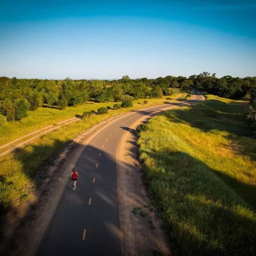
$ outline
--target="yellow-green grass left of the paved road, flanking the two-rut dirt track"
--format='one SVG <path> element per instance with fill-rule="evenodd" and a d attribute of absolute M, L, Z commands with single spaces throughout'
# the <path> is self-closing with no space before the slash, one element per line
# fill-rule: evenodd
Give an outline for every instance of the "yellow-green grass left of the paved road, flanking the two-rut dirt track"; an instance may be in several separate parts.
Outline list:
<path fill-rule="evenodd" d="M 76 134 L 108 117 L 146 106 L 161 104 L 161 102 L 166 101 L 166 98 L 172 99 L 168 100 L 168 102 L 175 101 L 175 98 L 178 98 L 179 94 L 176 90 L 172 96 L 164 96 L 161 99 L 147 99 L 148 104 L 142 103 L 144 99 L 134 100 L 133 107 L 113 110 L 108 112 L 108 114 L 92 116 L 85 120 L 62 126 L 54 132 L 33 140 L 31 144 L 22 147 L 20 150 L 16 150 L 0 158 L 0 214 L 16 208 L 22 200 L 28 197 L 36 186 L 34 181 L 36 172 L 48 162 L 58 149 L 70 142 Z M 114 103 L 91 104 L 89 102 L 88 104 L 66 108 L 65 110 L 39 108 L 36 111 L 29 112 L 29 116 L 28 118 L 24 118 L 23 124 L 21 122 L 4 124 L 0 128 L 0 141 L 1 143 L 8 142 L 10 138 L 15 139 L 54 122 L 72 118 L 75 114 L 81 115 L 84 111 L 90 110 L 97 111 L 101 106 L 112 107 Z"/>

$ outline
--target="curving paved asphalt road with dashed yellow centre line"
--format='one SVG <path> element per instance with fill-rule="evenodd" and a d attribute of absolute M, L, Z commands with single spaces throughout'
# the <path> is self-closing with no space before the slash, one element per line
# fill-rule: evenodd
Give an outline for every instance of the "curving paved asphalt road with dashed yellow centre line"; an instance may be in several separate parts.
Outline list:
<path fill-rule="evenodd" d="M 194 99 L 202 95 L 194 92 Z M 137 110 L 106 126 L 86 147 L 76 164 L 77 188 L 65 188 L 52 224 L 42 242 L 40 256 L 121 255 L 116 181 L 116 151 L 120 138 L 142 116 L 168 106 Z M 71 170 L 70 170 L 71 172 Z"/>

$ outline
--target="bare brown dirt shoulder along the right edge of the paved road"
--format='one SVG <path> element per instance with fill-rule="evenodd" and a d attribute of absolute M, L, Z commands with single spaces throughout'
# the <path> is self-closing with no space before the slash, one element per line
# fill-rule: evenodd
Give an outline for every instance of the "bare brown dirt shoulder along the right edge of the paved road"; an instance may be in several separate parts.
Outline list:
<path fill-rule="evenodd" d="M 134 122 L 122 137 L 117 153 L 119 219 L 122 231 L 122 255 L 170 255 L 163 222 L 156 215 L 154 199 L 143 183 L 142 167 L 138 162 L 136 127 L 151 117 Z M 160 254 L 159 254 L 160 255 Z"/>

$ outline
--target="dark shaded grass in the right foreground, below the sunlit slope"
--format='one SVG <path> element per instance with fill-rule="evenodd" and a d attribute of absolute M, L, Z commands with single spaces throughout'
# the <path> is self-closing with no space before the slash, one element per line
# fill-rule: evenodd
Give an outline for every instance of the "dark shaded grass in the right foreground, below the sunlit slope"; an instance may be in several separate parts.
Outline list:
<path fill-rule="evenodd" d="M 219 178 L 217 170 L 184 152 L 140 148 L 140 154 L 154 159 L 145 168 L 150 189 L 182 255 L 255 255 L 256 212 L 226 185 L 229 176 Z M 256 192 L 255 186 L 236 184 Z"/>

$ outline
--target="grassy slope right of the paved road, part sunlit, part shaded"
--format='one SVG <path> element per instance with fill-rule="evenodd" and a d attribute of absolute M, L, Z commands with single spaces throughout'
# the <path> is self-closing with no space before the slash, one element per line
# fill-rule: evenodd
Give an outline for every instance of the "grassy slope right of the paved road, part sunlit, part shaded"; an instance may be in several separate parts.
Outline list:
<path fill-rule="evenodd" d="M 138 144 L 150 190 L 182 255 L 256 255 L 256 139 L 247 104 L 206 102 L 150 120 Z"/>

